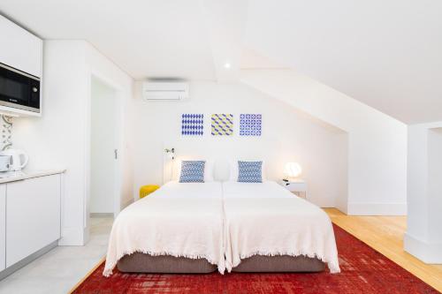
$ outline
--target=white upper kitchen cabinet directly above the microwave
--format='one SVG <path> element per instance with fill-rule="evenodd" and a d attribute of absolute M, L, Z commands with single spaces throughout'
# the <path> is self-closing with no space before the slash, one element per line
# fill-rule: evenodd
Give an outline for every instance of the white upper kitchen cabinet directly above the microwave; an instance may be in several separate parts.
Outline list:
<path fill-rule="evenodd" d="M 0 63 L 42 78 L 42 39 L 0 15 Z"/>

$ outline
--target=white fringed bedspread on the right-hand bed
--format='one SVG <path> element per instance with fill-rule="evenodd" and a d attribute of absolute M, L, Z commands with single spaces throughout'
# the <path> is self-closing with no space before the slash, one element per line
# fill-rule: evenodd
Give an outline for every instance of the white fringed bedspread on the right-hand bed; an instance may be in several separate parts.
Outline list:
<path fill-rule="evenodd" d="M 325 212 L 275 182 L 223 184 L 225 267 L 253 255 L 306 255 L 339 273 L 331 220 Z"/>

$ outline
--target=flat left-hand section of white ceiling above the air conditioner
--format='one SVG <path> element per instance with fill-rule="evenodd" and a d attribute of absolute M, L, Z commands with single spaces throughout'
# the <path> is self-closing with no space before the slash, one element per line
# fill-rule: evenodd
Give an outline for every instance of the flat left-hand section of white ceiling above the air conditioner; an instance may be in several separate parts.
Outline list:
<path fill-rule="evenodd" d="M 215 79 L 198 0 L 0 0 L 44 39 L 84 39 L 134 79 Z"/>

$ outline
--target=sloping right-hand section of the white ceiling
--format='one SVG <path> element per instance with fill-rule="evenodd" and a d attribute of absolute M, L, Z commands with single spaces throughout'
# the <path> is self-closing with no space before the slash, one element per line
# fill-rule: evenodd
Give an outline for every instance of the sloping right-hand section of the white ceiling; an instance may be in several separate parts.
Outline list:
<path fill-rule="evenodd" d="M 442 1 L 255 0 L 246 43 L 405 123 L 442 120 Z"/>

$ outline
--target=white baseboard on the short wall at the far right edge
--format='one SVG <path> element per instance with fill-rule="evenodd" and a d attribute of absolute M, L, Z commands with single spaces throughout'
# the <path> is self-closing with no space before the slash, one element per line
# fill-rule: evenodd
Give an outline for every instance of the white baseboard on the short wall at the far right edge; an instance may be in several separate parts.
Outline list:
<path fill-rule="evenodd" d="M 404 249 L 425 263 L 442 264 L 442 243 L 428 243 L 406 232 L 404 235 Z"/>

